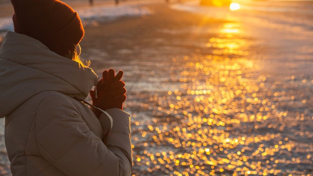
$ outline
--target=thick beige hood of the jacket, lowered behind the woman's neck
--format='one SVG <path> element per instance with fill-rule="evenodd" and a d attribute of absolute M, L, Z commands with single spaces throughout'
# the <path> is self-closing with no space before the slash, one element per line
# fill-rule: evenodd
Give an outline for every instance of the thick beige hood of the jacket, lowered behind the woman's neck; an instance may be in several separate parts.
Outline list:
<path fill-rule="evenodd" d="M 0 118 L 42 91 L 85 99 L 98 76 L 27 35 L 8 32 L 0 49 Z"/>

